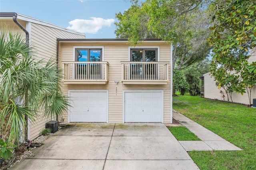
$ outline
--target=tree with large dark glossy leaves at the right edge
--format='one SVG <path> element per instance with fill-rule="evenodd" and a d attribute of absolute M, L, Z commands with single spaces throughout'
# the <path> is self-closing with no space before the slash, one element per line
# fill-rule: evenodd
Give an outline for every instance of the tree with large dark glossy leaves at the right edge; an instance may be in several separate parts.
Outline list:
<path fill-rule="evenodd" d="M 219 88 L 227 84 L 225 79 L 236 77 L 233 90 L 243 94 L 246 89 L 250 94 L 256 79 L 256 63 L 248 63 L 250 51 L 256 47 L 256 1 L 221 0 L 211 7 L 214 26 L 210 28 L 213 36 L 208 39 L 213 47 L 210 71 Z"/>

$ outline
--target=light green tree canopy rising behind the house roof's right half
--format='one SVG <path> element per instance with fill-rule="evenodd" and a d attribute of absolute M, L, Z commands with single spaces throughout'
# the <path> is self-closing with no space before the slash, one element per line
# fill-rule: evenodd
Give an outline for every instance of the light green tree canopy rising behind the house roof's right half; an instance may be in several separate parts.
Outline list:
<path fill-rule="evenodd" d="M 117 38 L 128 38 L 132 45 L 145 38 L 160 38 L 173 43 L 173 67 L 182 69 L 207 57 L 210 47 L 209 20 L 201 1 L 133 1 L 123 14 L 116 14 Z"/>

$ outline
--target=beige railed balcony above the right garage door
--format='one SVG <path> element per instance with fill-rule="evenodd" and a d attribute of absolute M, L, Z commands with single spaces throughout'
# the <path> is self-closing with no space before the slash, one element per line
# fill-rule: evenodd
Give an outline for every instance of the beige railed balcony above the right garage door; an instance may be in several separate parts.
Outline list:
<path fill-rule="evenodd" d="M 121 62 L 123 84 L 167 84 L 169 62 Z"/>

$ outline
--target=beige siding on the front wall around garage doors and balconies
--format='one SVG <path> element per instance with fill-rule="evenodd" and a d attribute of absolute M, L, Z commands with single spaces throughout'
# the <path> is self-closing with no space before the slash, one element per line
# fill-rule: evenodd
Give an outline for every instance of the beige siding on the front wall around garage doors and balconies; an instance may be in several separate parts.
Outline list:
<path fill-rule="evenodd" d="M 141 46 L 160 46 L 160 61 L 170 62 L 170 45 L 166 43 L 142 43 Z M 68 90 L 108 90 L 108 122 L 122 123 L 123 121 L 123 91 L 124 90 L 164 90 L 164 123 L 170 123 L 170 81 L 167 85 L 124 85 L 121 81 L 121 61 L 129 61 L 127 43 L 61 43 L 60 60 L 73 61 L 74 46 L 104 46 L 104 61 L 108 61 L 108 83 L 106 85 L 63 85 L 63 91 Z M 114 81 L 119 81 L 116 85 Z M 170 80 L 170 67 L 169 67 Z M 117 93 L 116 93 L 117 89 Z M 68 113 L 65 114 L 68 121 Z"/>

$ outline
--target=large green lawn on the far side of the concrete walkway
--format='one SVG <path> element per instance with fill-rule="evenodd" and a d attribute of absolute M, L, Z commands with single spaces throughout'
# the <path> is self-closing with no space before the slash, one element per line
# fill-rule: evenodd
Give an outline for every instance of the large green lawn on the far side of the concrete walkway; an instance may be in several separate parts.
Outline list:
<path fill-rule="evenodd" d="M 174 97 L 173 109 L 243 149 L 188 152 L 201 170 L 256 169 L 256 109 L 194 96 Z"/>

